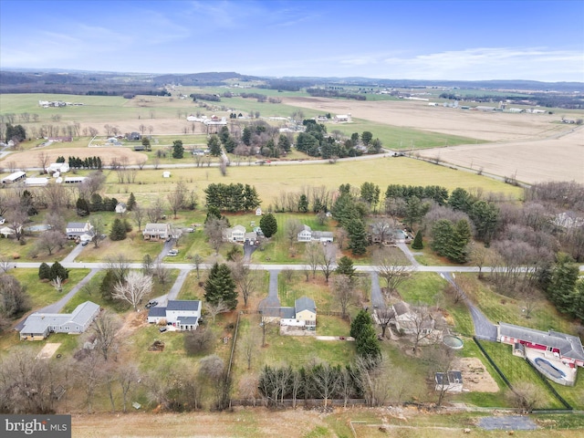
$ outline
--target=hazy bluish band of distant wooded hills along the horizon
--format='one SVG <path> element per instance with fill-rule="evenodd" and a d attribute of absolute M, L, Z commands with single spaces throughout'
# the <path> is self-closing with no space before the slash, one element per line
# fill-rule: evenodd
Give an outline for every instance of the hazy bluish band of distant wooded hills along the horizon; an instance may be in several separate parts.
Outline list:
<path fill-rule="evenodd" d="M 297 90 L 308 87 L 370 87 L 505 89 L 527 92 L 581 93 L 582 82 L 538 82 L 535 80 L 418 80 L 379 78 L 318 78 L 318 77 L 254 77 L 236 72 L 203 72 L 193 74 L 117 73 L 61 69 L 0 70 L 0 93 L 61 93 L 61 94 L 159 94 L 167 85 L 221 86 L 236 82 L 263 82 L 269 89 Z M 488 94 L 488 93 L 487 93 Z M 576 94 L 579 97 L 579 94 Z"/>

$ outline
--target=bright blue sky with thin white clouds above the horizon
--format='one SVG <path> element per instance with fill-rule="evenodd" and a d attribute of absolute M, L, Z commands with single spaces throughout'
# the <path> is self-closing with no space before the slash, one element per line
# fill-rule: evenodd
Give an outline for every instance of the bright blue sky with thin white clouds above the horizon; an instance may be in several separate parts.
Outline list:
<path fill-rule="evenodd" d="M 584 81 L 584 1 L 0 0 L 0 68 Z"/>

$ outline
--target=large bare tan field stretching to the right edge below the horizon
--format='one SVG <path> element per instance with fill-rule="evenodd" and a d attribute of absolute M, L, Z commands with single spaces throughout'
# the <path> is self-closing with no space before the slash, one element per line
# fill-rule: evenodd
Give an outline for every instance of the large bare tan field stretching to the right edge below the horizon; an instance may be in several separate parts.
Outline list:
<path fill-rule="evenodd" d="M 285 102 L 394 126 L 493 141 L 419 151 L 422 157 L 502 177 L 516 175 L 517 181 L 524 183 L 584 183 L 584 130 L 558 123 L 560 114 L 486 113 L 429 107 L 415 101 L 287 98 Z"/>

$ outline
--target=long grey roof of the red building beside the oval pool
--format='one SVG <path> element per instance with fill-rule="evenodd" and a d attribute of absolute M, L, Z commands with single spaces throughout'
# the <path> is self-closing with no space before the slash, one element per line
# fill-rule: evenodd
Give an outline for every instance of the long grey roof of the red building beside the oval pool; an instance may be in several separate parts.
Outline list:
<path fill-rule="evenodd" d="M 559 349 L 562 356 L 584 360 L 584 349 L 582 341 L 577 336 L 567 335 L 558 331 L 541 331 L 534 328 L 514 326 L 506 322 L 499 322 L 499 337 L 508 336 L 514 339 L 521 339 L 532 344 L 545 345 L 553 349 Z"/>

